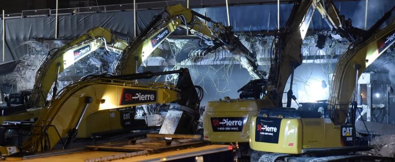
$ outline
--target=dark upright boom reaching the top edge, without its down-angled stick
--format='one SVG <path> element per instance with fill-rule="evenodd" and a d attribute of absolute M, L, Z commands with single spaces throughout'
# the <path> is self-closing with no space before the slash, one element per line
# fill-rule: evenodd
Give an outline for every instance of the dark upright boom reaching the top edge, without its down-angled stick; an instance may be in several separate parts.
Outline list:
<path fill-rule="evenodd" d="M 282 94 L 288 77 L 302 64 L 302 40 L 313 16 L 312 7 L 312 1 L 295 2 L 286 28 L 280 32 L 275 45 L 265 96 L 275 106 L 282 107 Z"/>

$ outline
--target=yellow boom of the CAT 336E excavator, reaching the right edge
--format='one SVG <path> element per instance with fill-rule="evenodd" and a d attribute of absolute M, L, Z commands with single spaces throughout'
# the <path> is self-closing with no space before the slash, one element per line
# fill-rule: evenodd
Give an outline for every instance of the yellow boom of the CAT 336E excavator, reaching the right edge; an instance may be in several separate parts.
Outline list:
<path fill-rule="evenodd" d="M 364 36 L 361 42 L 357 42 L 339 57 L 333 73 L 328 100 L 334 123 L 346 123 L 348 107 L 352 100 L 357 78 L 361 76 L 366 67 L 371 65 L 395 42 L 395 24 L 392 23 L 384 29 L 379 29 L 393 9 L 368 30 L 369 35 Z"/>

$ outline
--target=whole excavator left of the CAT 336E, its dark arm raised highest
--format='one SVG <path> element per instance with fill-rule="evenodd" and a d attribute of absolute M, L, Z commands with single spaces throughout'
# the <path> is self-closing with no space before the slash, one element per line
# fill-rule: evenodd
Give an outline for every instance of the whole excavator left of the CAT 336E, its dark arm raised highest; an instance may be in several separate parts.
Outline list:
<path fill-rule="evenodd" d="M 314 11 L 317 10 L 337 36 L 354 42 L 355 34 L 351 25 L 343 15 L 339 15 L 332 1 L 296 1 L 288 23 L 280 33 L 275 46 L 268 79 L 256 79 L 241 88 L 239 99 L 220 99 L 208 102 L 204 117 L 204 139 L 213 142 L 249 141 L 249 120 L 256 116 L 260 108 L 282 106 L 282 94 L 286 82 L 296 67 L 302 63 L 301 46 L 306 36 Z M 291 79 L 292 80 L 292 79 Z M 292 85 L 292 83 L 291 83 Z M 265 92 L 267 91 L 267 92 Z M 266 99 L 260 99 L 265 92 Z M 292 87 L 288 92 L 288 102 L 291 103 Z M 270 99 L 267 99 L 270 98 Z M 290 105 L 287 104 L 287 107 Z M 240 125 L 227 125 L 226 121 L 235 121 Z M 241 121 L 241 122 L 239 122 Z"/>

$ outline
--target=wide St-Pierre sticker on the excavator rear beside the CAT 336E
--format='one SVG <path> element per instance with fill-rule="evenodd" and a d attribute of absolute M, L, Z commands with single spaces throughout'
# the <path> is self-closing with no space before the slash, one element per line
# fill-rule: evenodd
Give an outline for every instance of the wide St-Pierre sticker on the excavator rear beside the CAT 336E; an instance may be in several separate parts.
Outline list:
<path fill-rule="evenodd" d="M 241 132 L 246 117 L 211 117 L 212 131 L 214 132 Z"/>

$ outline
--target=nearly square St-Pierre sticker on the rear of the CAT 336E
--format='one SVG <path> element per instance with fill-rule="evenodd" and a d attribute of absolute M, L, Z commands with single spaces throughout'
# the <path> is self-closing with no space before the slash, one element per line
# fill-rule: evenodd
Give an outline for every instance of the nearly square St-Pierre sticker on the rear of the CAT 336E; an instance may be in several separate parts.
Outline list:
<path fill-rule="evenodd" d="M 255 141 L 278 144 L 281 118 L 257 117 Z"/>

